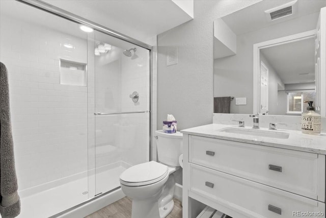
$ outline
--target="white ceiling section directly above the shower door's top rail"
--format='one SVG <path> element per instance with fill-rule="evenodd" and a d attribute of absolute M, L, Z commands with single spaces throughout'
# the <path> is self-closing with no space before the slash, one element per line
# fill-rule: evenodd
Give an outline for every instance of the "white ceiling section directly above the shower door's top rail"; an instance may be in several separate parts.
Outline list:
<path fill-rule="evenodd" d="M 45 0 L 44 2 L 92 20 L 124 35 L 149 38 L 193 19 L 171 0 Z M 184 1 L 193 4 L 193 1 Z"/>

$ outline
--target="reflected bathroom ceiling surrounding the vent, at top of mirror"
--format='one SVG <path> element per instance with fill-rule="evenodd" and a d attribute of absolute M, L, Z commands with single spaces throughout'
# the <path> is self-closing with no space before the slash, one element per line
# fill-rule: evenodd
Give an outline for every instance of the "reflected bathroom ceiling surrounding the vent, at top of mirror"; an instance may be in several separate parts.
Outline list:
<path fill-rule="evenodd" d="M 250 7 L 236 11 L 221 17 L 229 28 L 236 34 L 240 35 L 251 31 L 259 30 L 265 27 L 276 25 L 280 22 L 294 19 L 297 17 L 306 16 L 320 11 L 320 8 L 326 7 L 325 0 L 299 0 L 297 1 L 298 11 L 296 14 L 284 18 L 268 21 L 264 11 L 272 9 L 292 1 L 288 0 L 273 0 L 261 1 Z M 313 3 L 313 4 L 312 4 Z M 248 16 L 250 15 L 250 16 Z"/>

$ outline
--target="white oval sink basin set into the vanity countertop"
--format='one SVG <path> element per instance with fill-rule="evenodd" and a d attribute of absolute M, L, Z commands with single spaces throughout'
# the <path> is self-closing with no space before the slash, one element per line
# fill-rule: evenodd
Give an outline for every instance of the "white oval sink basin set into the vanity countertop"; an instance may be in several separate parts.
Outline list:
<path fill-rule="evenodd" d="M 235 133 L 242 135 L 254 135 L 269 138 L 289 138 L 289 133 L 279 130 L 262 130 L 242 127 L 226 127 L 218 130 L 220 132 Z"/>

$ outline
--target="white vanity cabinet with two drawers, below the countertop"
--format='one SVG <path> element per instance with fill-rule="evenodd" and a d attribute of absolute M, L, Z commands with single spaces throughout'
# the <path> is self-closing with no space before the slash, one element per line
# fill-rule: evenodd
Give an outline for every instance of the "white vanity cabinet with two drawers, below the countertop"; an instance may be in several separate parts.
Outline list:
<path fill-rule="evenodd" d="M 187 133 L 183 146 L 183 218 L 192 199 L 234 218 L 325 217 L 325 155 Z"/>

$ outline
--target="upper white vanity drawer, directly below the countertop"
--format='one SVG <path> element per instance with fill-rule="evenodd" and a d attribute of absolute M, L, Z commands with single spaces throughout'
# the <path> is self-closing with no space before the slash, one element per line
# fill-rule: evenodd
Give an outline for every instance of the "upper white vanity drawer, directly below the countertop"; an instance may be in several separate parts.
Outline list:
<path fill-rule="evenodd" d="M 325 202 L 325 156 L 189 136 L 189 162 Z"/>

